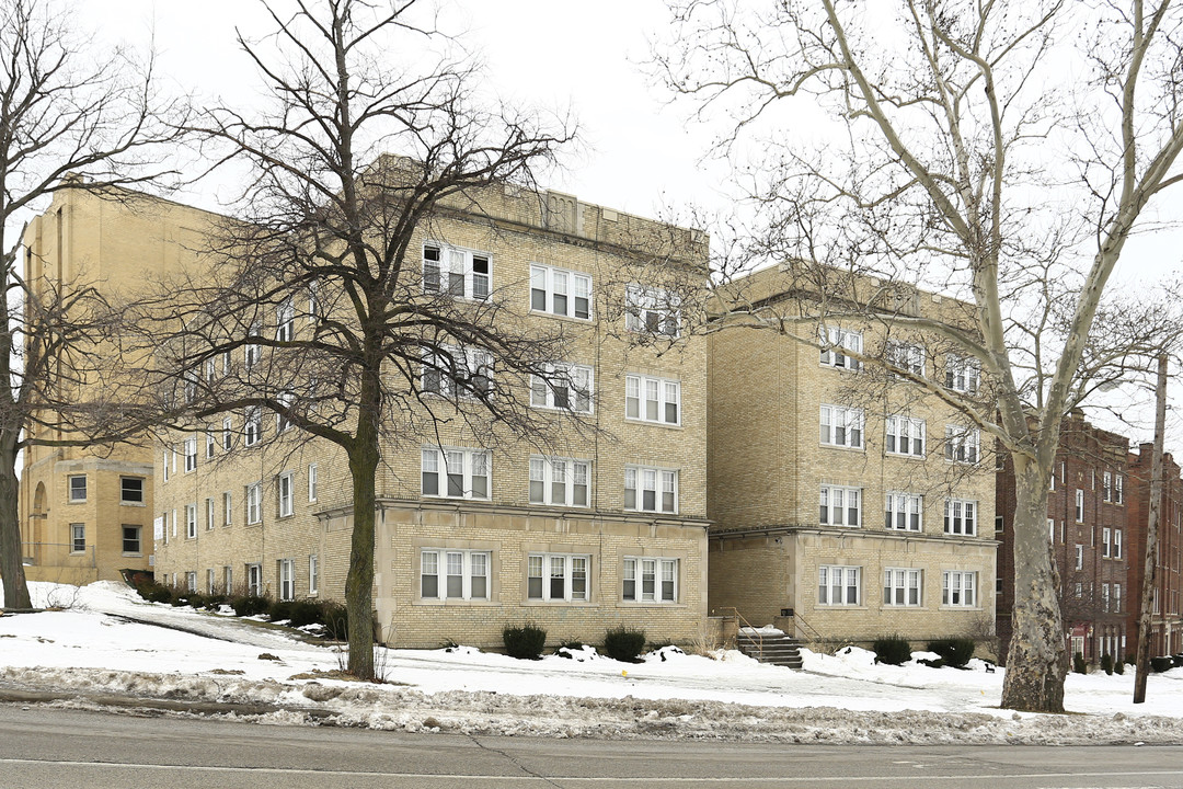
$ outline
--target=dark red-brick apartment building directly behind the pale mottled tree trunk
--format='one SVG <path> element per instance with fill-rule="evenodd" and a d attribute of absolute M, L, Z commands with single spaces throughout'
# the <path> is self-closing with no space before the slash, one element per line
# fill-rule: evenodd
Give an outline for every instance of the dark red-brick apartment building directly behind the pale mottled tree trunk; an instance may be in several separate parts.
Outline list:
<path fill-rule="evenodd" d="M 1134 604 L 1131 568 L 1137 556 L 1126 502 L 1132 483 L 1126 467 L 1130 441 L 1103 431 L 1074 412 L 1060 428 L 1060 447 L 1048 491 L 1047 533 L 1060 578 L 1060 610 L 1068 654 L 1088 662 L 1132 651 L 1127 617 Z M 1010 640 L 1014 606 L 1015 474 L 1002 458 L 996 487 L 998 539 L 997 630 L 1003 652 Z"/>

